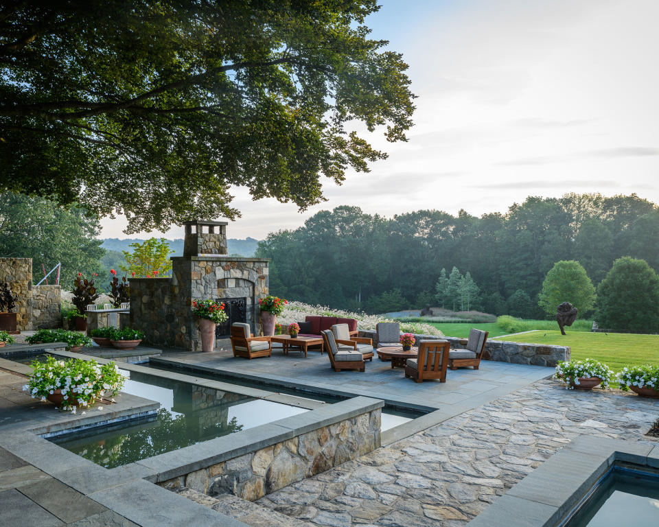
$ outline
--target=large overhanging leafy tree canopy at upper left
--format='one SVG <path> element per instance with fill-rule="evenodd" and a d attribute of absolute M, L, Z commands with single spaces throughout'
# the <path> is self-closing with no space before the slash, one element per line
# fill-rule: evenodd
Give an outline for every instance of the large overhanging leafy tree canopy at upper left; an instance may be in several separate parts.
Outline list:
<path fill-rule="evenodd" d="M 405 140 L 402 56 L 369 39 L 375 0 L 0 4 L 0 190 L 54 196 L 128 232 L 235 218 L 253 198 L 323 200 Z M 356 126 L 351 121 L 361 121 Z"/>

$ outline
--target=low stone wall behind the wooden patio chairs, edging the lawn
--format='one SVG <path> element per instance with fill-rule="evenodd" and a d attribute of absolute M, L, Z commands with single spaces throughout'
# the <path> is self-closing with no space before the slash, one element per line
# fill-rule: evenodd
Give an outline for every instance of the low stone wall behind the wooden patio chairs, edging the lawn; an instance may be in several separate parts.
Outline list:
<path fill-rule="evenodd" d="M 373 346 L 378 347 L 375 331 L 359 332 L 360 337 L 371 338 Z M 415 334 L 418 340 L 448 340 L 453 349 L 465 349 L 457 337 L 438 337 L 435 335 Z M 515 364 L 533 364 L 533 366 L 555 367 L 559 361 L 570 360 L 572 349 L 569 346 L 544 346 L 542 344 L 528 344 L 525 342 L 507 342 L 505 340 L 490 340 L 485 343 L 483 359 L 498 362 L 513 362 Z"/>

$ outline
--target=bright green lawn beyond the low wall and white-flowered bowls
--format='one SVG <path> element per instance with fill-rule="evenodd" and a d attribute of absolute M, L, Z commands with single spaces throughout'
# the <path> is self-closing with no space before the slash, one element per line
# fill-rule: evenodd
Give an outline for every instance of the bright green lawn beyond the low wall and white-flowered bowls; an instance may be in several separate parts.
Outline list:
<path fill-rule="evenodd" d="M 487 325 L 487 324 L 485 324 Z M 443 331 L 443 330 L 442 330 Z M 586 358 L 605 362 L 613 371 L 630 364 L 659 364 L 659 335 L 634 333 L 585 333 L 570 331 L 561 335 L 558 330 L 533 331 L 506 337 L 511 342 L 555 344 L 570 346 L 573 360 Z"/>

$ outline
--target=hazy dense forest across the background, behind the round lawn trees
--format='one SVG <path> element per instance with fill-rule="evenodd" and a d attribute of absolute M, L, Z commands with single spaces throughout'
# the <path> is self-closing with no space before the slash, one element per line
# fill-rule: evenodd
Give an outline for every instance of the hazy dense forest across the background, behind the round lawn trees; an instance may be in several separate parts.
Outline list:
<path fill-rule="evenodd" d="M 659 271 L 659 209 L 636 194 L 529 197 L 481 218 L 463 210 L 384 218 L 344 206 L 271 233 L 256 254 L 272 259 L 270 292 L 293 300 L 367 312 L 437 305 L 441 269 L 456 267 L 480 288 L 472 309 L 507 314 L 524 292 L 529 318 L 545 318 L 537 294 L 556 261 L 579 261 L 596 286 L 621 256 Z"/>

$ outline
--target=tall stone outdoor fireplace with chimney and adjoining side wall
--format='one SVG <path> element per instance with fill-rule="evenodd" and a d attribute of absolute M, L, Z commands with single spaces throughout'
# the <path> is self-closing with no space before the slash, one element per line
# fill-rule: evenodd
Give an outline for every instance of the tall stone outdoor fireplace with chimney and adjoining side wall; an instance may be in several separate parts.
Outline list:
<path fill-rule="evenodd" d="M 218 325 L 218 337 L 229 335 L 233 322 L 261 332 L 259 298 L 268 295 L 268 260 L 227 255 L 227 223 L 185 222 L 183 256 L 172 257 L 171 278 L 130 280 L 130 327 L 146 333 L 152 345 L 201 351 L 192 301 L 225 303 L 229 320 Z"/>

